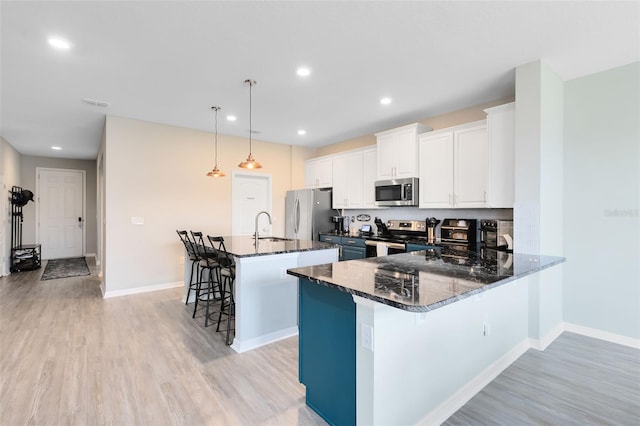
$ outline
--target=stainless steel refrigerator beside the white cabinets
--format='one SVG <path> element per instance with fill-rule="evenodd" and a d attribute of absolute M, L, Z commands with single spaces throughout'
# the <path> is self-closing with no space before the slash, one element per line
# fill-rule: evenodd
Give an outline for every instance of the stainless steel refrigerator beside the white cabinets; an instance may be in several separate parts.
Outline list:
<path fill-rule="evenodd" d="M 318 232 L 333 229 L 331 190 L 300 189 L 288 191 L 285 204 L 285 237 L 318 240 Z"/>

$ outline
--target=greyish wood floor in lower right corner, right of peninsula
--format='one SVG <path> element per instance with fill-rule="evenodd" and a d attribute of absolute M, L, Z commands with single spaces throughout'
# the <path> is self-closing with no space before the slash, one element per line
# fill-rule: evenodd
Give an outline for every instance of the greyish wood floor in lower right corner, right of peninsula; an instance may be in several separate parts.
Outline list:
<path fill-rule="evenodd" d="M 640 425 L 640 350 L 564 333 L 528 350 L 445 425 Z"/>

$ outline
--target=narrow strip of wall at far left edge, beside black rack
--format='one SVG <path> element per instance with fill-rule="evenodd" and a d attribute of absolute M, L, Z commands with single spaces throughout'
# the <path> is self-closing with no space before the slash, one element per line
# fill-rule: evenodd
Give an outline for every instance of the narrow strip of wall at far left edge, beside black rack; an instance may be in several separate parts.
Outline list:
<path fill-rule="evenodd" d="M 11 207 L 8 193 L 21 184 L 20 154 L 4 138 L 0 138 L 0 277 L 9 274 L 11 262 Z"/>

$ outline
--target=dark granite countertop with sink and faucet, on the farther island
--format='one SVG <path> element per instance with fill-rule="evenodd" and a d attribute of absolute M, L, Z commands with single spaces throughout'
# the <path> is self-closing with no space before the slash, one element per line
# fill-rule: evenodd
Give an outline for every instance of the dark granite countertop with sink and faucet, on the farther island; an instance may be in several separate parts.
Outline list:
<path fill-rule="evenodd" d="M 255 244 L 253 236 L 225 236 L 224 245 L 227 252 L 235 257 L 269 256 L 273 254 L 295 253 L 300 251 L 326 250 L 337 247 L 330 243 L 310 240 L 269 239 L 262 237 Z"/>

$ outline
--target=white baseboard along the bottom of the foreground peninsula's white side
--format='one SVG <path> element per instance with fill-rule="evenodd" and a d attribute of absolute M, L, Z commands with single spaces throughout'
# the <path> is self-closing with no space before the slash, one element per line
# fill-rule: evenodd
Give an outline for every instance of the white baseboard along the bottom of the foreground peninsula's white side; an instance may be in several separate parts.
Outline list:
<path fill-rule="evenodd" d="M 444 423 L 485 386 L 498 377 L 507 367 L 520 358 L 520 356 L 522 356 L 522 354 L 524 354 L 528 349 L 529 340 L 523 340 L 489 367 L 485 368 L 476 377 L 467 382 L 466 385 L 451 395 L 446 401 L 434 408 L 429 414 L 423 417 L 418 424 L 439 425 Z"/>

